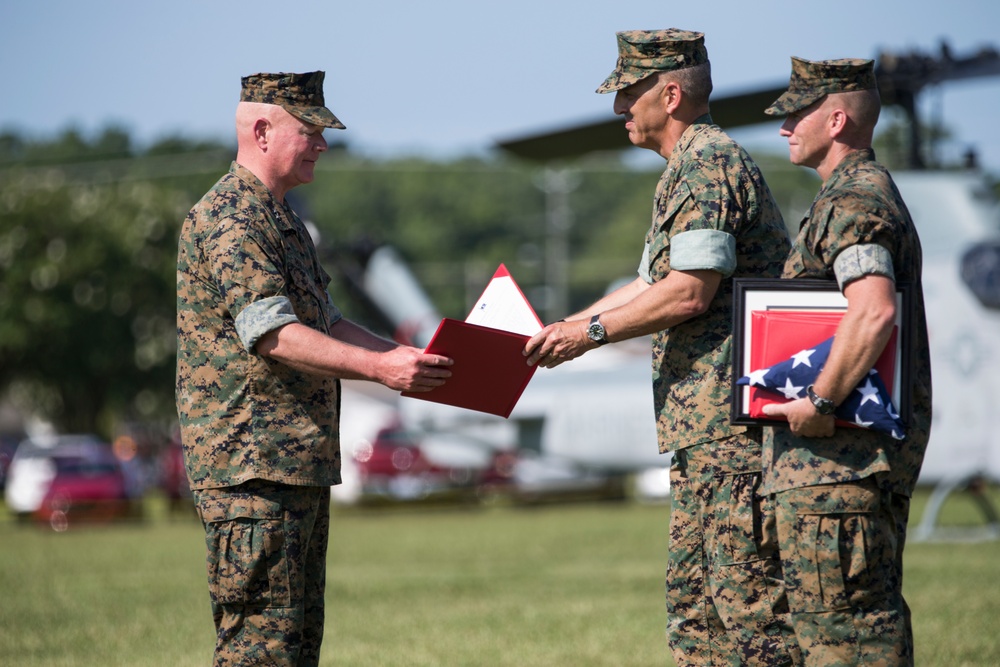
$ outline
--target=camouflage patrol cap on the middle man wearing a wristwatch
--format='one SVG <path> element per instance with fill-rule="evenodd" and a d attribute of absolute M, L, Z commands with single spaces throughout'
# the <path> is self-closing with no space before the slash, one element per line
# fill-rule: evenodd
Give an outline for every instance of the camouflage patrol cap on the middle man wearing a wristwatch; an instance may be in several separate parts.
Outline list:
<path fill-rule="evenodd" d="M 690 30 L 625 30 L 617 33 L 618 64 L 597 89 L 610 93 L 657 72 L 672 72 L 708 62 L 705 35 Z"/>

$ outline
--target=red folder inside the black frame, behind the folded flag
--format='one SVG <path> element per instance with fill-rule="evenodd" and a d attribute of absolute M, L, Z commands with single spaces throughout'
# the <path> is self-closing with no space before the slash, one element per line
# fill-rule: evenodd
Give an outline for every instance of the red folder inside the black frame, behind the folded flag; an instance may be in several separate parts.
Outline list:
<path fill-rule="evenodd" d="M 843 316 L 844 311 L 752 311 L 750 318 L 753 339 L 750 345 L 750 368 L 773 366 L 810 345 L 823 342 L 837 332 L 837 325 Z M 899 399 L 893 394 L 893 386 L 898 332 L 899 328 L 893 327 L 889 342 L 875 362 L 875 368 L 897 406 Z M 765 405 L 787 402 L 773 392 L 751 387 L 747 413 L 753 418 L 767 419 L 769 417 L 763 411 Z"/>

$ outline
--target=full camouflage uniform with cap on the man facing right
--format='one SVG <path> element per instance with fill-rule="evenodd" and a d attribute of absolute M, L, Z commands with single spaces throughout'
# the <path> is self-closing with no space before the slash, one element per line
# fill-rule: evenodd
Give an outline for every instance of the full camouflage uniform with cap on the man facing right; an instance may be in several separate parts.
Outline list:
<path fill-rule="evenodd" d="M 247 77 L 242 99 L 305 90 L 322 106 L 317 74 Z M 297 111 L 335 126 L 329 111 Z M 215 665 L 319 661 L 340 386 L 254 345 L 292 322 L 329 332 L 341 317 L 329 281 L 295 212 L 235 162 L 184 222 L 177 407 L 205 526 Z"/>

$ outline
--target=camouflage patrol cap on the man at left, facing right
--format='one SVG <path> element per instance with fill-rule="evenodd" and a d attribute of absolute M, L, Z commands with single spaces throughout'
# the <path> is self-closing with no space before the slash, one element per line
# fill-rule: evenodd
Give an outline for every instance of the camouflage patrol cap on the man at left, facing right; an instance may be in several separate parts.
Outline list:
<path fill-rule="evenodd" d="M 325 77 L 326 72 L 251 74 L 242 79 L 240 101 L 276 104 L 307 123 L 346 129 L 323 101 Z"/>

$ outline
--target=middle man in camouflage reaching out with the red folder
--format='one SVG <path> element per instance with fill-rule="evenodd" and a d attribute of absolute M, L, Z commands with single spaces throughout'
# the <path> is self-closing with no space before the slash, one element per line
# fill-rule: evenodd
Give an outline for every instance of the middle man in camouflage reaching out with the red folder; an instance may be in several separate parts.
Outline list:
<path fill-rule="evenodd" d="M 769 499 L 757 495 L 761 430 L 729 423 L 732 278 L 778 277 L 788 233 L 756 164 L 712 123 L 703 35 L 669 29 L 621 32 L 617 38 L 618 65 L 598 92 L 618 91 L 615 111 L 630 124 L 644 126 L 647 114 L 656 113 L 638 107 L 647 104 L 642 96 L 660 89 L 639 86 L 661 72 L 679 73 L 666 76 L 677 77 L 673 80 L 692 101 L 697 95 L 687 86 L 697 84 L 688 82 L 700 79 L 704 102 L 673 112 L 677 125 L 684 113 L 689 116 L 672 144 L 639 144 L 658 150 L 667 165 L 656 188 L 639 277 L 626 288 L 633 291 L 612 294 L 567 322 L 550 325 L 529 341 L 529 351 L 537 345 L 541 365 L 556 365 L 547 362 L 550 356 L 570 358 L 560 337 L 588 318 L 616 341 L 652 333 L 659 447 L 674 452 L 666 575 L 667 637 L 674 658 L 679 665 L 791 664 L 796 649 L 787 641 L 783 618 L 773 511 Z M 700 69 L 684 71 L 691 68 Z M 636 143 L 633 134 L 637 131 L 630 133 Z M 641 308 L 647 289 L 682 272 L 701 271 L 714 274 L 711 280 L 717 282 L 714 291 L 707 290 L 702 312 L 651 331 L 618 325 L 624 320 L 616 318 L 615 307 Z M 646 316 L 647 328 L 650 319 Z"/>

